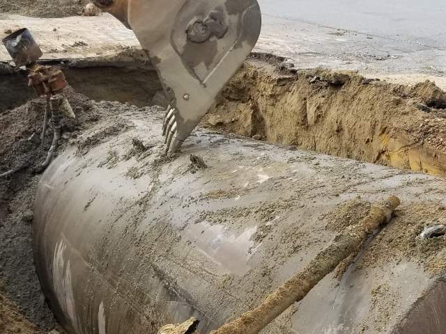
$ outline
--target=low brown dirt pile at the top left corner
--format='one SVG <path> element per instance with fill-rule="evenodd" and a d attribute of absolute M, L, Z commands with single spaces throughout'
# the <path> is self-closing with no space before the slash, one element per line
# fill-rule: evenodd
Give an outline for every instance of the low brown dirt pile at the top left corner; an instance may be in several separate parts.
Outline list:
<path fill-rule="evenodd" d="M 82 13 L 86 0 L 0 0 L 0 13 L 31 17 L 68 17 Z"/>

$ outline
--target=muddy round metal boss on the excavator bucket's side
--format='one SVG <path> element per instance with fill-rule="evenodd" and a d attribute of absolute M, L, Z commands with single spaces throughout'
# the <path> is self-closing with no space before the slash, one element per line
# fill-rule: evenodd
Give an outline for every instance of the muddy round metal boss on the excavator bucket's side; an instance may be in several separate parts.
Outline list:
<path fill-rule="evenodd" d="M 211 37 L 223 38 L 228 27 L 223 23 L 223 13 L 220 10 L 212 10 L 209 15 L 202 19 L 195 17 L 187 26 L 187 39 L 194 43 L 203 43 Z"/>

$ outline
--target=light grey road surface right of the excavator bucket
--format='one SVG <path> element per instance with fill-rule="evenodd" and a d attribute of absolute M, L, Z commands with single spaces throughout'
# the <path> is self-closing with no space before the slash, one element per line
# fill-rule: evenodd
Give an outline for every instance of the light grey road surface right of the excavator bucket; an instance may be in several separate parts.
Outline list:
<path fill-rule="evenodd" d="M 446 3 L 439 0 L 259 0 L 258 49 L 298 67 L 443 77 Z"/>

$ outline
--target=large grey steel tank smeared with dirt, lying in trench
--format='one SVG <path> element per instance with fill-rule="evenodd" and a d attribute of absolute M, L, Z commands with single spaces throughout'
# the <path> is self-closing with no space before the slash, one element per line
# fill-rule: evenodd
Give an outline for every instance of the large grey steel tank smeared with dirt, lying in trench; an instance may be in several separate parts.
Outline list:
<path fill-rule="evenodd" d="M 336 233 L 325 216 L 340 203 L 358 193 L 371 201 L 396 194 L 406 205 L 445 198 L 434 177 L 203 130 L 167 159 L 162 113 L 121 120 L 120 133 L 111 130 L 116 122 L 103 122 L 82 134 L 38 187 L 37 272 L 70 334 L 151 334 L 191 316 L 209 333 L 327 246 Z M 133 138 L 148 149 L 137 150 Z M 190 154 L 208 168 L 191 166 Z M 379 333 L 371 296 L 383 284 L 388 294 L 378 303 L 390 305 L 392 317 L 381 333 L 417 333 L 410 330 L 417 326 L 442 333 L 444 320 L 410 315 L 443 310 L 426 296 L 443 293 L 444 283 L 398 253 L 374 267 L 354 263 L 340 280 L 328 276 L 263 333 Z M 399 302 L 388 303 L 397 292 Z"/>

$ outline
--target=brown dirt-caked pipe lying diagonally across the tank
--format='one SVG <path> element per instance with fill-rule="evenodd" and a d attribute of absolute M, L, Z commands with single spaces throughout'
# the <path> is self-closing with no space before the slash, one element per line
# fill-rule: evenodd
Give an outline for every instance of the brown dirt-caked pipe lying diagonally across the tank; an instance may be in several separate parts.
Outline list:
<path fill-rule="evenodd" d="M 295 274 L 284 285 L 270 294 L 261 305 L 246 312 L 238 319 L 225 324 L 211 334 L 256 334 L 268 326 L 293 303 L 301 301 L 307 294 L 342 261 L 350 257 L 380 225 L 389 223 L 392 213 L 401 204 L 397 196 L 390 196 L 376 203 L 369 214 L 356 225 L 351 225 L 334 242 L 319 253 L 304 270 Z M 191 332 L 194 319 L 183 324 L 168 325 L 158 334 L 186 334 Z"/>

